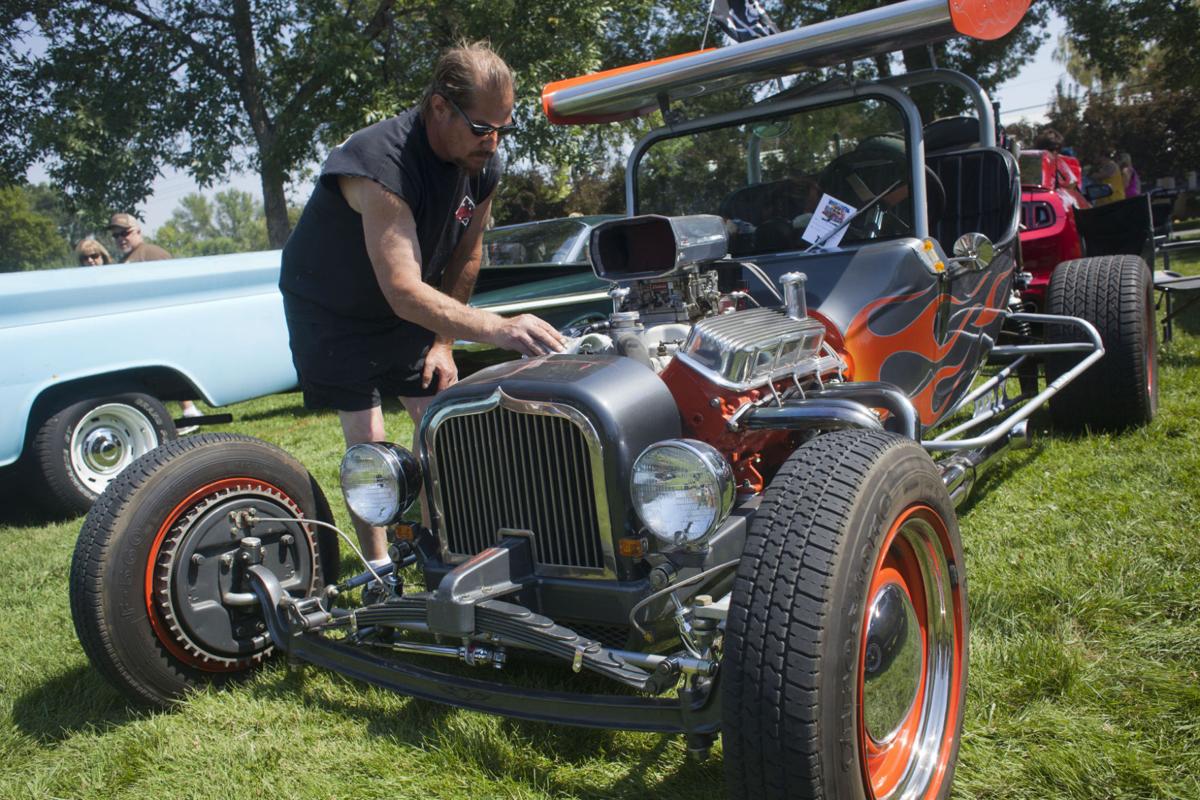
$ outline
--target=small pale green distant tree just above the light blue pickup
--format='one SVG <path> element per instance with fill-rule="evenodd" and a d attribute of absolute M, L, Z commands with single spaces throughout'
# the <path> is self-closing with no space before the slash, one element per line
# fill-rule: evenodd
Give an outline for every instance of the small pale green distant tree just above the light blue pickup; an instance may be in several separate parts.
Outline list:
<path fill-rule="evenodd" d="M 263 207 L 248 192 L 238 190 L 218 192 L 212 201 L 203 194 L 188 194 L 158 228 L 155 241 L 176 258 L 270 248 Z"/>

